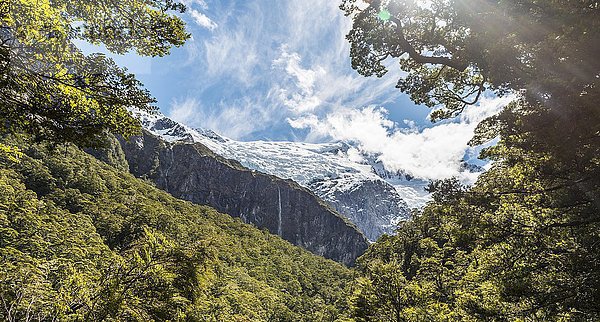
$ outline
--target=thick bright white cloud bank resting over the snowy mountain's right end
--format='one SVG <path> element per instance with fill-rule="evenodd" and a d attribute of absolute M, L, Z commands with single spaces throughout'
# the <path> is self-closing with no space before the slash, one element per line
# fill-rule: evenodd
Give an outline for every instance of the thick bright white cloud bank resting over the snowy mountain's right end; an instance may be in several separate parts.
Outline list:
<path fill-rule="evenodd" d="M 441 123 L 422 131 L 398 129 L 382 108 L 341 109 L 322 119 L 311 115 L 289 120 L 295 128 L 310 129 L 315 137 L 353 141 L 360 150 L 373 153 L 386 168 L 404 170 L 423 179 L 457 176 L 473 178 L 461 172 L 460 163 L 469 150 L 467 142 L 477 124 L 497 113 L 513 98 L 483 99 L 479 106 L 465 110 L 459 120 Z"/>

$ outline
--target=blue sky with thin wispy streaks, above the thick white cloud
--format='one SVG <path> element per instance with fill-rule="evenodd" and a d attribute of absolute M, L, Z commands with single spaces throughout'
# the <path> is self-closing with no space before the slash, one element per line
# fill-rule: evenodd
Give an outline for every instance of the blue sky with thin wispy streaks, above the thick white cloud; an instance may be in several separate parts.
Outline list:
<path fill-rule="evenodd" d="M 397 71 L 377 79 L 351 68 L 351 21 L 335 0 L 185 2 L 193 38 L 183 48 L 120 60 L 179 121 L 241 140 L 317 141 L 327 138 L 288 120 L 375 105 L 400 126 L 429 123 L 428 109 L 394 88 Z"/>

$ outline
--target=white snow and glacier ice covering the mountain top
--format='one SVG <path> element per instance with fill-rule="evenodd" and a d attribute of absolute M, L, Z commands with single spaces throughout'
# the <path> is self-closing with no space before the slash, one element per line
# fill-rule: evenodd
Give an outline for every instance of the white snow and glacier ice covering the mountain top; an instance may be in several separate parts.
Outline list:
<path fill-rule="evenodd" d="M 242 165 L 307 188 L 320 181 L 335 180 L 335 189 L 351 191 L 365 181 L 384 181 L 396 188 L 409 207 L 421 207 L 429 200 L 427 181 L 402 171 L 390 172 L 377 156 L 360 152 L 345 142 L 301 143 L 282 141 L 235 141 L 212 130 L 193 129 L 160 113 L 134 111 L 142 126 L 166 141 L 199 142 L 213 152 Z"/>

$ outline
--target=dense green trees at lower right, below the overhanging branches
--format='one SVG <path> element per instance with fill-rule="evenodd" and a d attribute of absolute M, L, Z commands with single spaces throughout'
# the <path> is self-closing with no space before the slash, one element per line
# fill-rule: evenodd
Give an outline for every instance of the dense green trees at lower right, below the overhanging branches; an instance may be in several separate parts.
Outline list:
<path fill-rule="evenodd" d="M 359 259 L 358 321 L 600 319 L 599 154 L 564 163 L 502 134 L 475 186 L 432 184 L 435 200 Z"/>

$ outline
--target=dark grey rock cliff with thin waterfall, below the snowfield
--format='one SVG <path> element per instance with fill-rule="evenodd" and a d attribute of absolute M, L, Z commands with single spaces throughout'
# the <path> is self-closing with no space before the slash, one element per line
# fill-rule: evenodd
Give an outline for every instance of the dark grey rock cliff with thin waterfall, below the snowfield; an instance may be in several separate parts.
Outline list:
<path fill-rule="evenodd" d="M 344 264 L 368 247 L 356 226 L 291 180 L 244 168 L 200 143 L 169 143 L 148 132 L 121 145 L 135 176 L 177 198 L 212 206 Z"/>

